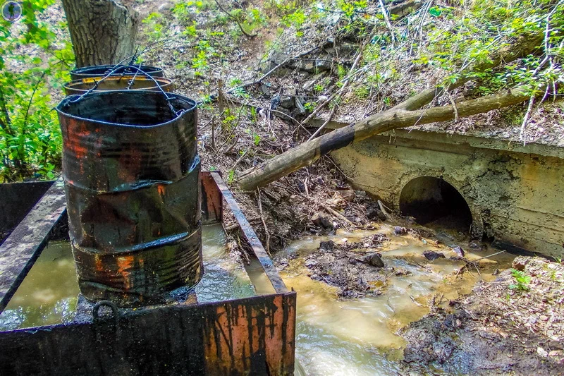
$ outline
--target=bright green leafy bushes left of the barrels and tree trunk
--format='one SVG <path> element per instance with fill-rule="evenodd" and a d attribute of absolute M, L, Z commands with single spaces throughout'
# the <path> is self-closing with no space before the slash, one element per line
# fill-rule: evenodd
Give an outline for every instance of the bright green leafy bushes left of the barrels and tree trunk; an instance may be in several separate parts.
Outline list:
<path fill-rule="evenodd" d="M 55 44 L 56 28 L 37 14 L 54 0 L 23 2 L 18 24 L 0 19 L 0 178 L 54 178 L 61 166 L 61 133 L 49 92 L 70 80 L 70 42 Z M 37 53 L 22 54 L 21 47 Z M 21 68 L 25 67 L 25 68 Z"/>

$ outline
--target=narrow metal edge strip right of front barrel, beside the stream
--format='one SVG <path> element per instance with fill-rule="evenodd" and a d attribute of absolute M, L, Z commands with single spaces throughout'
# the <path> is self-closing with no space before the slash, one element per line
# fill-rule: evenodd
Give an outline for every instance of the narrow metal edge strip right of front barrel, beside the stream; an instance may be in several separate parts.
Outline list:
<path fill-rule="evenodd" d="M 259 260 L 260 265 L 262 265 L 266 276 L 269 277 L 269 280 L 274 287 L 274 291 L 276 291 L 277 293 L 288 292 L 288 287 L 286 287 L 286 284 L 284 284 L 284 281 L 281 279 L 280 274 L 278 274 L 276 267 L 274 267 L 271 258 L 269 257 L 268 253 L 266 253 L 266 250 L 264 250 L 264 247 L 262 246 L 262 243 L 255 233 L 255 230 L 252 229 L 251 224 L 249 223 L 249 221 L 247 221 L 245 214 L 243 214 L 243 210 L 241 210 L 237 201 L 233 197 L 233 193 L 231 193 L 231 190 L 229 190 L 226 183 L 217 172 L 214 171 L 210 174 L 212 174 L 214 181 L 223 194 L 223 198 L 225 198 L 227 205 L 229 205 L 231 212 L 233 212 L 235 219 L 237 219 L 237 222 L 239 223 L 241 231 L 243 231 L 243 235 L 245 236 L 247 243 L 249 243 L 250 247 L 255 253 L 255 256 L 257 256 L 257 259 Z"/>

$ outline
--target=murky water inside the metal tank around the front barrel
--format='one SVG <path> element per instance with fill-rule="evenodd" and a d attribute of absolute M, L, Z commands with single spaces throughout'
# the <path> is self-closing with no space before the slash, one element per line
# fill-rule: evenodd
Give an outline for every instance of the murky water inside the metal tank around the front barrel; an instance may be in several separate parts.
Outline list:
<path fill-rule="evenodd" d="M 204 277 L 196 287 L 200 303 L 253 296 L 245 269 L 228 255 L 221 225 L 202 226 Z M 49 243 L 0 315 L 0 330 L 73 320 L 78 298 L 71 245 Z"/>

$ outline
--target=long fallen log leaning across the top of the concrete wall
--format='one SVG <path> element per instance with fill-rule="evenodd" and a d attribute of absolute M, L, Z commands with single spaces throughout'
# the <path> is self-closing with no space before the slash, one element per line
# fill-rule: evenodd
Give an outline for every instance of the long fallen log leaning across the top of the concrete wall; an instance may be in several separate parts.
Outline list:
<path fill-rule="evenodd" d="M 247 169 L 239 176 L 238 184 L 243 190 L 255 190 L 257 187 L 265 186 L 271 181 L 290 174 L 290 172 L 309 166 L 324 154 L 373 135 L 396 128 L 452 120 L 457 115 L 460 119 L 465 116 L 481 114 L 525 102 L 529 100 L 530 96 L 530 87 L 517 87 L 503 94 L 466 100 L 456 104 L 456 107 L 448 105 L 417 111 L 407 111 L 402 108 L 391 109 L 362 119 L 354 125 L 339 128 L 336 131 L 321 135 L 319 138 L 306 141 L 298 147 Z"/>

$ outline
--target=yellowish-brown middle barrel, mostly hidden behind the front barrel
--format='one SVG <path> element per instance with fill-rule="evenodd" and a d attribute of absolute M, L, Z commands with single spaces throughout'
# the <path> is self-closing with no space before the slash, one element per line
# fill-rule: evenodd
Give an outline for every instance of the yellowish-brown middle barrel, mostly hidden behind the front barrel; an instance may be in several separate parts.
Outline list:
<path fill-rule="evenodd" d="M 164 77 L 150 78 L 143 75 L 118 75 L 108 77 L 103 81 L 100 81 L 98 77 L 82 78 L 66 83 L 64 87 L 66 95 L 82 95 L 92 89 L 94 85 L 97 85 L 97 87 L 95 90 L 92 90 L 92 92 L 104 92 L 109 90 L 160 91 L 157 84 L 166 92 L 173 90 L 172 80 Z"/>

